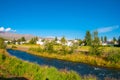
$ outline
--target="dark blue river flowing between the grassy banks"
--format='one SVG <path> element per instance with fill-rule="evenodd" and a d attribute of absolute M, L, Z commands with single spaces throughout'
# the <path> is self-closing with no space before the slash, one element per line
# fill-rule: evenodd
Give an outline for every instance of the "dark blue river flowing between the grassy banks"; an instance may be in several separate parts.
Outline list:
<path fill-rule="evenodd" d="M 40 65 L 53 66 L 56 67 L 57 69 L 73 70 L 82 76 L 94 75 L 99 80 L 103 80 L 105 77 L 116 78 L 117 80 L 120 80 L 120 70 L 95 67 L 83 63 L 75 63 L 57 59 L 38 57 L 27 52 L 18 50 L 8 49 L 7 51 L 9 52 L 9 54 L 16 56 L 17 58 L 20 58 L 22 60 L 37 63 Z"/>

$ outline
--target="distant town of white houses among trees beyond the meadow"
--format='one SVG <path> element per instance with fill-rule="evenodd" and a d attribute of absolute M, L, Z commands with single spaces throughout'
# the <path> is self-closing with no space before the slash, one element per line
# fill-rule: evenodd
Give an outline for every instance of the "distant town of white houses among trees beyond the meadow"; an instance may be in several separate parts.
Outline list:
<path fill-rule="evenodd" d="M 86 33 L 87 34 L 87 33 Z M 29 37 L 29 36 L 28 36 Z M 34 37 L 30 36 L 30 38 L 26 39 L 26 36 L 23 35 L 21 38 L 13 38 L 13 39 L 6 39 L 6 44 L 15 44 L 15 45 L 21 45 L 21 44 L 37 44 L 37 45 L 44 45 L 46 42 L 52 42 L 54 41 L 56 44 L 63 44 L 62 40 L 65 41 L 64 45 L 66 46 L 72 46 L 73 44 L 77 44 L 79 46 L 86 46 L 86 39 L 74 39 L 74 40 L 68 40 L 64 36 L 62 38 L 40 38 L 40 37 Z M 119 39 L 113 37 L 112 40 L 107 40 L 107 36 L 102 36 L 99 38 L 100 45 L 102 46 L 117 46 L 119 44 Z"/>

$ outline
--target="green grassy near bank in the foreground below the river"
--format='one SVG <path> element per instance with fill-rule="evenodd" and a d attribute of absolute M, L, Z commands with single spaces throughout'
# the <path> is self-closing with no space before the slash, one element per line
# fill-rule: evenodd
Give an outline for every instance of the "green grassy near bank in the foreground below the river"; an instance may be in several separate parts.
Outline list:
<path fill-rule="evenodd" d="M 96 80 L 91 76 L 81 77 L 74 71 L 57 70 L 45 65 L 39 66 L 10 56 L 0 49 L 0 79 L 4 80 Z"/>

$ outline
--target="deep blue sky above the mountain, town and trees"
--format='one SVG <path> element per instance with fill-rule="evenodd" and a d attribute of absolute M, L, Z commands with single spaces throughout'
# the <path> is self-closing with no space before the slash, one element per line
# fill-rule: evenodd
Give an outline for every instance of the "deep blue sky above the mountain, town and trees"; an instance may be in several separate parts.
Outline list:
<path fill-rule="evenodd" d="M 83 39 L 86 30 L 120 36 L 120 0 L 0 0 L 1 28 L 41 37 Z"/>

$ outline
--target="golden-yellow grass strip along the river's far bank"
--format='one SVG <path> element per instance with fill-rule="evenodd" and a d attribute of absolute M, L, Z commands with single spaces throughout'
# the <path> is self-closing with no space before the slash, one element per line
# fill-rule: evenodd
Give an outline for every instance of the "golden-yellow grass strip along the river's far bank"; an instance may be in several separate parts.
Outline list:
<path fill-rule="evenodd" d="M 67 54 L 67 55 L 60 55 L 60 54 L 54 54 L 54 53 L 50 54 L 46 52 L 41 53 L 41 52 L 30 51 L 29 48 L 30 47 L 28 46 L 17 46 L 17 48 L 15 49 L 26 51 L 30 54 L 34 54 L 41 57 L 55 58 L 60 60 L 72 61 L 72 62 L 80 62 L 80 63 L 85 63 L 85 64 L 104 67 L 104 68 L 110 68 L 110 69 L 120 69 L 120 63 L 113 63 L 111 61 L 106 61 L 103 58 L 100 58 L 97 56 L 90 56 L 82 53 L 77 53 L 77 54 L 73 53 L 73 54 Z"/>

